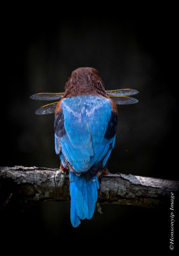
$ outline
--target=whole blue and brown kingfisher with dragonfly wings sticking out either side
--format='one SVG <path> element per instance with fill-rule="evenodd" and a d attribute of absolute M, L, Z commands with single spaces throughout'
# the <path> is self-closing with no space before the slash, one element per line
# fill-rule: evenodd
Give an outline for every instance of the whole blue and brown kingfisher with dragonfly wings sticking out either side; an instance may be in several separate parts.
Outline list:
<path fill-rule="evenodd" d="M 118 104 L 134 104 L 134 89 L 105 90 L 98 70 L 75 69 L 63 93 L 36 93 L 35 100 L 59 100 L 36 110 L 37 115 L 54 113 L 54 145 L 60 169 L 69 172 L 70 220 L 78 227 L 95 212 L 98 177 L 105 175 L 107 159 L 114 148 Z"/>

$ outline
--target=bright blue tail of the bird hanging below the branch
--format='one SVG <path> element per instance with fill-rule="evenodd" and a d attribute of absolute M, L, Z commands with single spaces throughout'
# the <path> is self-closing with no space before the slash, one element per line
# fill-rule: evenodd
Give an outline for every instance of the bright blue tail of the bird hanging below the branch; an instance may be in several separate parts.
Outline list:
<path fill-rule="evenodd" d="M 74 172 L 70 172 L 70 220 L 73 227 L 78 227 L 81 220 L 89 220 L 93 217 L 98 188 L 97 176 L 88 180 L 86 174 L 77 176 Z"/>

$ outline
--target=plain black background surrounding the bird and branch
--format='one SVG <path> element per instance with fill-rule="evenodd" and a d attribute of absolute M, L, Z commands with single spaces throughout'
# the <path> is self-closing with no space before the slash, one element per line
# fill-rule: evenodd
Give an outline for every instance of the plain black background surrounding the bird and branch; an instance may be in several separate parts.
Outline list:
<path fill-rule="evenodd" d="M 139 90 L 138 104 L 118 107 L 109 171 L 178 179 L 175 6 L 129 11 L 119 5 L 103 12 L 88 4 L 72 13 L 69 6 L 30 4 L 4 10 L 1 166 L 59 167 L 54 116 L 36 116 L 46 102 L 29 96 L 63 92 L 75 68 L 94 67 L 106 90 Z M 169 208 L 102 205 L 102 212 L 72 228 L 70 202 L 44 202 L 27 212 L 13 206 L 3 214 L 3 241 L 20 252 L 24 246 L 33 252 L 36 244 L 40 252 L 82 252 L 81 244 L 84 253 L 169 251 Z"/>

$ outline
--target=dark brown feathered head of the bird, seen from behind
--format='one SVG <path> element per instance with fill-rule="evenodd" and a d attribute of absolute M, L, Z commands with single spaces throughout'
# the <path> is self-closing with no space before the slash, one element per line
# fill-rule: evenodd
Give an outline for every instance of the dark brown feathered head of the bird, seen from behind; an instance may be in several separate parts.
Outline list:
<path fill-rule="evenodd" d="M 98 70 L 88 67 L 75 69 L 65 84 L 64 97 L 89 94 L 107 97 Z"/>

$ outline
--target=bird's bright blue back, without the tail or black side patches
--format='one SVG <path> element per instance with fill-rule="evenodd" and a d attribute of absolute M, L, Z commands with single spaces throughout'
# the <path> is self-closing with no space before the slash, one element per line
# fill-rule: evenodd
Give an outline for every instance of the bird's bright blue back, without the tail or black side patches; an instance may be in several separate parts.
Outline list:
<path fill-rule="evenodd" d="M 114 143 L 114 138 L 105 138 L 111 118 L 111 101 L 81 95 L 63 99 L 60 106 L 65 128 L 60 138 L 61 160 L 67 160 L 76 173 L 87 172 L 105 156 L 109 144 Z"/>

